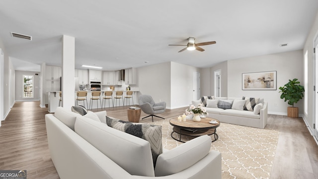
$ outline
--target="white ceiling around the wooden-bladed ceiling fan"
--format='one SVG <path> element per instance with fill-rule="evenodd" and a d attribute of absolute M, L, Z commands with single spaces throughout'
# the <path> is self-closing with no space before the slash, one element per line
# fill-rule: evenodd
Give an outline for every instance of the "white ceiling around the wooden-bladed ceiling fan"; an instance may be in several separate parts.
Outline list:
<path fill-rule="evenodd" d="M 0 39 L 15 68 L 62 63 L 75 37 L 76 68 L 107 70 L 176 62 L 194 67 L 303 49 L 318 0 L 0 0 Z M 32 36 L 32 41 L 10 32 Z M 188 37 L 204 52 L 183 51 Z M 288 43 L 286 47 L 280 44 Z M 148 61 L 149 63 L 144 63 Z M 22 68 L 26 67 L 25 64 Z"/>

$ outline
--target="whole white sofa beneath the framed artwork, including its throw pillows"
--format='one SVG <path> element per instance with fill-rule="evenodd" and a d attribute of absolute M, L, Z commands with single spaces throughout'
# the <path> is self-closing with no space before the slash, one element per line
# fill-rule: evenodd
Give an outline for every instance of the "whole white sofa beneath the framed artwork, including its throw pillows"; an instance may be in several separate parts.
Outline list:
<path fill-rule="evenodd" d="M 267 102 L 257 97 L 214 97 L 202 96 L 192 101 L 202 103 L 208 117 L 220 122 L 263 129 L 267 124 Z"/>

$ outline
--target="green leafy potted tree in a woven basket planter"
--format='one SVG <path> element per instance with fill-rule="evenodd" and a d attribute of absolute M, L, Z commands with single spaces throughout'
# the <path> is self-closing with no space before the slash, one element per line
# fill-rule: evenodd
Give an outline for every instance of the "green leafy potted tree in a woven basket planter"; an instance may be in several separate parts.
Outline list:
<path fill-rule="evenodd" d="M 280 95 L 281 99 L 284 99 L 285 102 L 288 100 L 288 104 L 292 107 L 287 107 L 287 116 L 289 117 L 298 117 L 298 107 L 294 107 L 294 103 L 297 103 L 300 99 L 304 97 L 304 87 L 299 85 L 298 79 L 289 80 L 289 82 L 284 85 L 284 87 L 279 87 L 282 94 Z"/>

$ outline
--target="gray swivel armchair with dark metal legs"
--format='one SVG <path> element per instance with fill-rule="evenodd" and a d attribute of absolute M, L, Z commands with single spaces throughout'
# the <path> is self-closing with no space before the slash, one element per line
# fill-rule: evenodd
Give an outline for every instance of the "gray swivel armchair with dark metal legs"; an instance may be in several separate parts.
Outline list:
<path fill-rule="evenodd" d="M 151 95 L 146 95 L 146 94 L 140 95 L 138 100 L 139 100 L 140 108 L 146 114 L 150 114 L 149 116 L 146 116 L 144 118 L 151 116 L 153 119 L 153 122 L 154 122 L 154 116 L 164 119 L 163 117 L 155 115 L 155 114 L 159 114 L 159 113 L 164 112 L 164 110 L 165 110 L 165 102 L 164 101 L 155 103 L 153 97 Z M 144 118 L 142 118 L 142 119 L 144 119 Z"/>

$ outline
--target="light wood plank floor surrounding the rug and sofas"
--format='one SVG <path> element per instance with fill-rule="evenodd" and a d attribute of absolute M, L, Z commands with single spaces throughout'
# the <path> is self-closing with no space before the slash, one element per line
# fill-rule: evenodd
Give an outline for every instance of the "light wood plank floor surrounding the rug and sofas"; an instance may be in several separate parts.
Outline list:
<path fill-rule="evenodd" d="M 127 108 L 111 107 L 106 111 L 109 116 L 127 120 Z M 168 119 L 184 109 L 167 109 L 159 115 Z M 38 101 L 14 104 L 1 122 L 0 170 L 27 170 L 28 179 L 59 179 L 48 149 L 47 113 Z M 142 112 L 141 118 L 146 115 Z M 280 131 L 271 179 L 318 179 L 318 146 L 302 118 L 269 114 L 266 128 Z"/>

